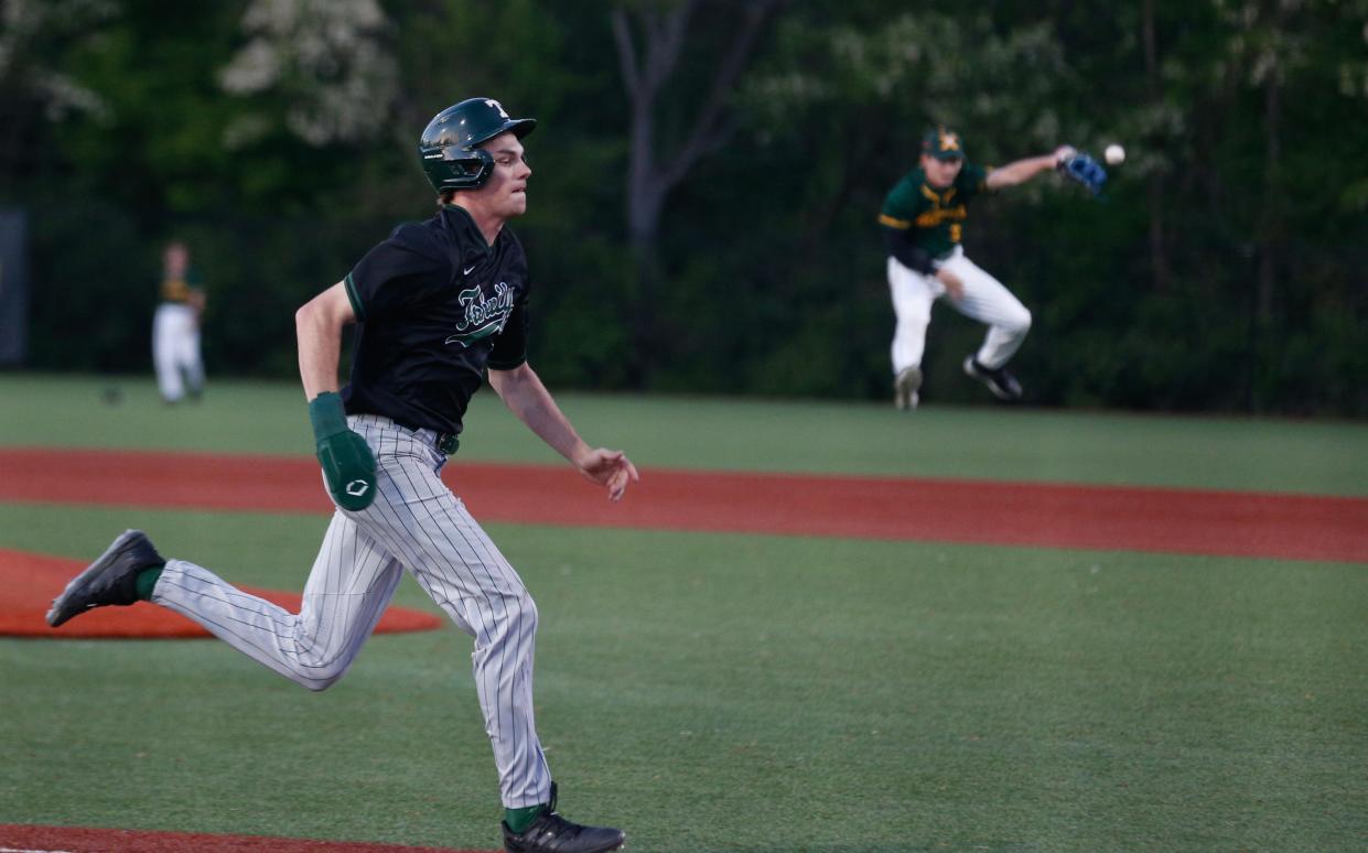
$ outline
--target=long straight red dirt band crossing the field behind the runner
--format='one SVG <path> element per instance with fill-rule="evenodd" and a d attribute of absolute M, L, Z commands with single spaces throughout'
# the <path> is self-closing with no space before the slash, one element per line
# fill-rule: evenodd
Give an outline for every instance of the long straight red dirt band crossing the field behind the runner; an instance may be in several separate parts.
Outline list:
<path fill-rule="evenodd" d="M 0 500 L 328 513 L 313 459 L 0 450 Z M 453 461 L 482 521 L 1368 562 L 1368 499 L 647 469 L 620 504 L 569 468 Z"/>

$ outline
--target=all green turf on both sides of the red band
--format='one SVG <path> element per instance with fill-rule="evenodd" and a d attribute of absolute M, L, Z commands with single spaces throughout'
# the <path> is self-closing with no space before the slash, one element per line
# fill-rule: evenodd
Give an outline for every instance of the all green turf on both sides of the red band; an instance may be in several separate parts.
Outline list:
<path fill-rule="evenodd" d="M 308 454 L 293 385 L 0 376 L 0 444 Z M 553 461 L 477 396 L 462 455 Z M 1368 426 L 566 395 L 643 468 L 1368 495 Z M 628 496 L 631 499 L 631 495 Z M 990 524 L 990 519 L 988 519 Z M 126 526 L 298 589 L 312 515 L 0 503 L 0 547 Z M 490 525 L 542 610 L 564 811 L 631 849 L 1368 846 L 1368 566 Z M 412 581 L 398 604 L 435 611 Z M 454 629 L 312 694 L 213 641 L 0 641 L 0 822 L 494 848 Z"/>

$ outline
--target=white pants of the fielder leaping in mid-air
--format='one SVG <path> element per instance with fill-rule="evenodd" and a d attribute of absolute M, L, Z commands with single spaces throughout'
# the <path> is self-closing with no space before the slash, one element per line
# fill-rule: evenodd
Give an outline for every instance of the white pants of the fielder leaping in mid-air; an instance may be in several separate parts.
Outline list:
<path fill-rule="evenodd" d="M 978 364 L 989 369 L 1003 366 L 1026 339 L 1030 312 L 1001 282 L 964 257 L 964 250 L 959 246 L 940 267 L 964 283 L 962 299 L 947 299 L 951 308 L 989 327 L 984 346 L 975 354 Z M 897 376 L 907 368 L 922 365 L 932 302 L 945 295 L 945 286 L 934 275 L 923 276 L 889 257 L 888 287 L 897 314 L 897 328 L 893 331 L 893 376 Z"/>

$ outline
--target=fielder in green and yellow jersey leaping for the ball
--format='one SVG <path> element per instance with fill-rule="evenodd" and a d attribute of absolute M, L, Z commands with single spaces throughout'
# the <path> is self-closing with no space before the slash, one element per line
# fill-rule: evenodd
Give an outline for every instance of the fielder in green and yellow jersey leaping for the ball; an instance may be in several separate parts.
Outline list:
<path fill-rule="evenodd" d="M 893 405 L 915 409 L 922 385 L 922 353 L 932 302 L 948 297 L 966 317 L 988 324 L 977 353 L 964 358 L 964 373 L 999 399 L 1019 401 L 1022 387 L 1007 361 L 1030 329 L 1030 312 L 1001 282 L 964 257 L 960 246 L 969 202 L 985 190 L 1030 180 L 1075 154 L 1064 145 L 1052 154 L 1018 160 L 1001 168 L 964 161 L 959 134 L 937 127 L 922 139 L 919 165 L 884 200 L 878 216 L 888 246 L 888 287 L 897 327 L 893 332 Z"/>

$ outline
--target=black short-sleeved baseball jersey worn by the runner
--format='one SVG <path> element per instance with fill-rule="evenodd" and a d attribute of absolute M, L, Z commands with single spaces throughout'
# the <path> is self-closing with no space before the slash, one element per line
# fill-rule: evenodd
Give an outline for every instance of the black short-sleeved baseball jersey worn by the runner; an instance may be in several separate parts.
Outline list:
<path fill-rule="evenodd" d="M 484 368 L 527 361 L 527 291 L 508 227 L 490 246 L 469 213 L 443 205 L 395 228 L 346 276 L 357 317 L 347 413 L 458 433 Z"/>

